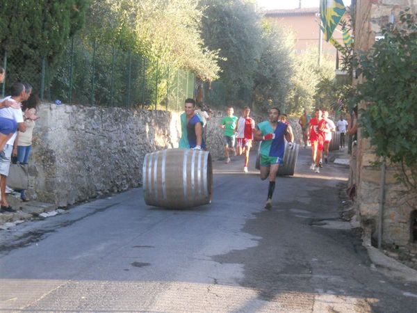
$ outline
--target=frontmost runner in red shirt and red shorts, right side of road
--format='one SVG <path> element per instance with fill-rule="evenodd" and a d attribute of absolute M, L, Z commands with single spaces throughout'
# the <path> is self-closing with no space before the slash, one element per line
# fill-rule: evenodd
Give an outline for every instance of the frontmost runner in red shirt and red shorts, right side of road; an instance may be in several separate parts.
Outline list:
<path fill-rule="evenodd" d="M 320 172 L 319 164 L 323 145 L 325 143 L 325 132 L 323 131 L 327 123 L 322 119 L 322 111 L 316 109 L 314 118 L 311 118 L 309 123 L 309 136 L 311 143 L 311 166 L 310 169 L 314 172 Z"/>

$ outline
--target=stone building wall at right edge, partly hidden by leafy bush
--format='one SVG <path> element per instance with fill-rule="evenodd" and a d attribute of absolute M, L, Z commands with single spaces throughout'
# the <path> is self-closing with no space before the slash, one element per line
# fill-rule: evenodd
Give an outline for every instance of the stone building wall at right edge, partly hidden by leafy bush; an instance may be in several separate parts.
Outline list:
<path fill-rule="evenodd" d="M 356 25 L 354 27 L 354 45 L 357 51 L 368 51 L 379 35 L 381 26 L 398 16 L 404 8 L 411 8 L 417 13 L 417 0 L 357 0 Z M 354 84 L 361 83 L 362 77 L 354 79 Z M 365 109 L 366 103 L 359 104 L 359 109 Z M 375 232 L 379 212 L 379 197 L 381 194 L 381 170 L 373 166 L 376 161 L 370 141 L 361 136 L 358 131 L 358 145 L 356 162 L 351 168 L 350 181 L 356 184 L 356 205 L 359 210 L 361 224 Z M 407 202 L 404 187 L 395 179 L 395 166 L 388 165 L 386 170 L 386 184 L 384 186 L 385 202 L 383 217 L 384 243 L 405 246 L 411 241 L 411 214 L 416 202 Z"/>

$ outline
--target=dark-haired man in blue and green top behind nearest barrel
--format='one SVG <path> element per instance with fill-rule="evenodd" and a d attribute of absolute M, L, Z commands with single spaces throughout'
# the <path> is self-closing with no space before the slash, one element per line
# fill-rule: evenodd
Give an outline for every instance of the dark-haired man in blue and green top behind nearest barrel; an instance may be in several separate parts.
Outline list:
<path fill-rule="evenodd" d="M 203 121 L 195 113 L 195 100 L 188 98 L 184 106 L 185 112 L 181 114 L 181 149 L 202 150 L 206 147 L 203 140 Z"/>

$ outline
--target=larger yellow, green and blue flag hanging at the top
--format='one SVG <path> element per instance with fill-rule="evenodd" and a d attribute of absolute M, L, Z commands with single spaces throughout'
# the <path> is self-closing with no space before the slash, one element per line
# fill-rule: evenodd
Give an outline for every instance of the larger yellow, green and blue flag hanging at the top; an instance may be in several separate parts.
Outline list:
<path fill-rule="evenodd" d="M 332 38 L 334 29 L 345 14 L 345 10 L 343 0 L 320 0 L 320 18 L 325 29 L 323 33 L 326 41 Z"/>

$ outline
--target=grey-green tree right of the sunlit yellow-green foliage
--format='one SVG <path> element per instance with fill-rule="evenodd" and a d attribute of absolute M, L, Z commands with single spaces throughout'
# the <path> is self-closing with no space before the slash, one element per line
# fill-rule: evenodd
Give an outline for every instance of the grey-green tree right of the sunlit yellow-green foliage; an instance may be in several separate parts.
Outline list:
<path fill-rule="evenodd" d="M 200 6 L 204 42 L 222 58 L 220 81 L 227 90 L 226 101 L 250 104 L 263 46 L 259 15 L 243 0 L 202 0 Z"/>

